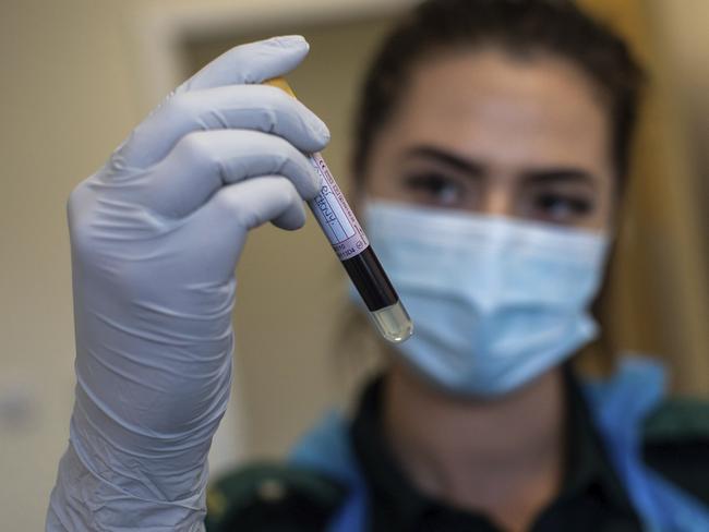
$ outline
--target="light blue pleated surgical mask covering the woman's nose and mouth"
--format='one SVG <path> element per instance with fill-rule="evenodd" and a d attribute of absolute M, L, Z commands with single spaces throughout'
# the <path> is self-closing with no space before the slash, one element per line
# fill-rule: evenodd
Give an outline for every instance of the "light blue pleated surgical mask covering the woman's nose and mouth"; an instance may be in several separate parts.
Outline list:
<path fill-rule="evenodd" d="M 363 214 L 413 319 L 396 349 L 444 389 L 506 394 L 596 336 L 605 235 L 373 200 Z"/>

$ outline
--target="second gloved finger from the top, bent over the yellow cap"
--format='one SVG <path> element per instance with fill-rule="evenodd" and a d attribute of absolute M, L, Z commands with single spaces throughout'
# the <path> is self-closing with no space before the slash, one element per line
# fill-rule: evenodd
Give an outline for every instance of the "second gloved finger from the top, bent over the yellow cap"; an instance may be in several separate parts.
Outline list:
<path fill-rule="evenodd" d="M 279 88 L 230 85 L 175 96 L 135 129 L 117 155 L 130 167 L 147 168 L 184 135 L 219 129 L 273 133 L 307 153 L 329 142 L 324 122 Z"/>

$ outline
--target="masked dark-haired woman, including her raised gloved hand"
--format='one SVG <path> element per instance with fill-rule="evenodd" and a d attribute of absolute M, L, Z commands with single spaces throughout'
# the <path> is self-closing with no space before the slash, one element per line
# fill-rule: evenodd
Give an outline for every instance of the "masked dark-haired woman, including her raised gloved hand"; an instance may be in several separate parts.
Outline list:
<path fill-rule="evenodd" d="M 76 406 L 49 530 L 202 525 L 233 266 L 317 192 L 301 152 L 326 128 L 257 85 L 305 53 L 231 50 L 72 194 Z M 640 77 L 566 2 L 430 0 L 394 29 L 354 173 L 417 334 L 351 422 L 216 485 L 208 530 L 709 530 L 709 430 L 663 424 L 661 370 L 592 385 L 567 363 L 598 335 Z"/>

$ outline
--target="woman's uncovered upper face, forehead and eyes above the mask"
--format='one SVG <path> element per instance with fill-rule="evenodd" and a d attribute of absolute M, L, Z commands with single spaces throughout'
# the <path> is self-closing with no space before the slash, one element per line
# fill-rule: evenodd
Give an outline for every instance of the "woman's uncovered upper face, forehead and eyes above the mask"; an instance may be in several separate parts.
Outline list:
<path fill-rule="evenodd" d="M 374 142 L 364 192 L 610 230 L 610 119 L 592 82 L 552 56 L 495 49 L 436 57 L 412 75 Z"/>

